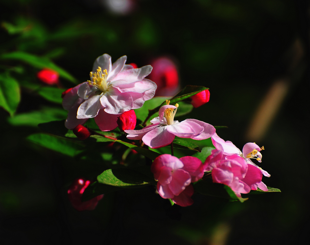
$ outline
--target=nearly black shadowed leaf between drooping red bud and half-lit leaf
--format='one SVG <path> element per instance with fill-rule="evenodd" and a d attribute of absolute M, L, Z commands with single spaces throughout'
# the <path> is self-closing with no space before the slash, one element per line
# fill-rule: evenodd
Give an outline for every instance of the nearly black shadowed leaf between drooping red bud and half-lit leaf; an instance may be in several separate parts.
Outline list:
<path fill-rule="evenodd" d="M 113 191 L 122 190 L 122 187 L 113 186 L 113 185 L 104 185 L 100 184 L 98 181 L 87 186 L 82 195 L 82 201 L 88 201 L 96 196 L 107 194 Z"/>

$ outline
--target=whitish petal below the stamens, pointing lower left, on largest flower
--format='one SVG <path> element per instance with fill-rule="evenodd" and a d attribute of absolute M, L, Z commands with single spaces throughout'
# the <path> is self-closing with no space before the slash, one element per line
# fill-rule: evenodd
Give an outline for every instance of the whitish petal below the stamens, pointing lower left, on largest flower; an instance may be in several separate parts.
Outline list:
<path fill-rule="evenodd" d="M 103 108 L 100 97 L 101 95 L 95 95 L 85 100 L 78 108 L 77 118 L 94 118 L 97 116 L 99 110 Z"/>

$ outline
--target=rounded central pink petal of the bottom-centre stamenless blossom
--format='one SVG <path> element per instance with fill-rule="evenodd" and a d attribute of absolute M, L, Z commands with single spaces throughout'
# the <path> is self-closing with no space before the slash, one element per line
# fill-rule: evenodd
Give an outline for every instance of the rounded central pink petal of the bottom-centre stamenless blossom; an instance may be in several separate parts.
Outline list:
<path fill-rule="evenodd" d="M 191 176 L 183 169 L 177 169 L 172 172 L 172 180 L 169 188 L 173 194 L 179 195 L 186 186 L 191 183 Z"/>

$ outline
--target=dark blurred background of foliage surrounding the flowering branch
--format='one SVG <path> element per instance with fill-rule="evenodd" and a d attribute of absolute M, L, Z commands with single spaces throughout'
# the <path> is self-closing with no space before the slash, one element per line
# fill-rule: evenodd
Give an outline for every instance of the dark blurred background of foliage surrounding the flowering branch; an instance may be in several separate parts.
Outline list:
<path fill-rule="evenodd" d="M 1 244 L 304 244 L 309 11 L 301 0 L 1 0 L 1 79 L 20 87 L 16 112 L 0 108 Z M 113 62 L 127 55 L 128 64 L 153 65 L 163 74 L 154 79 L 172 84 L 172 93 L 209 87 L 210 102 L 186 117 L 227 126 L 218 135 L 240 149 L 264 145 L 260 167 L 271 177 L 263 182 L 281 193 L 244 203 L 194 194 L 194 204 L 181 208 L 141 188 L 106 194 L 93 211 L 75 210 L 69 186 L 91 177 L 85 168 L 101 173 L 100 165 L 25 137 L 41 132 L 38 123 L 66 118 L 60 95 L 47 100 L 44 88 L 61 93 L 86 81 L 104 53 Z M 160 59 L 170 65 L 155 70 Z M 38 78 L 45 66 L 58 71 L 56 82 Z"/>

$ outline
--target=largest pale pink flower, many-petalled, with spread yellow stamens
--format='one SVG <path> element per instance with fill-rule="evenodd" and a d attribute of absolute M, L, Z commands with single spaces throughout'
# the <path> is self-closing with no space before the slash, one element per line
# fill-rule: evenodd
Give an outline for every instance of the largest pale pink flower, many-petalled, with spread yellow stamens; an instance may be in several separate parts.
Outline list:
<path fill-rule="evenodd" d="M 152 71 L 146 65 L 134 69 L 125 65 L 122 56 L 113 64 L 111 56 L 99 56 L 90 73 L 91 81 L 83 82 L 63 98 L 63 107 L 68 110 L 65 126 L 73 129 L 88 118 L 95 118 L 101 131 L 117 127 L 117 118 L 123 112 L 140 108 L 145 100 L 153 98 L 156 84 L 145 79 Z"/>

